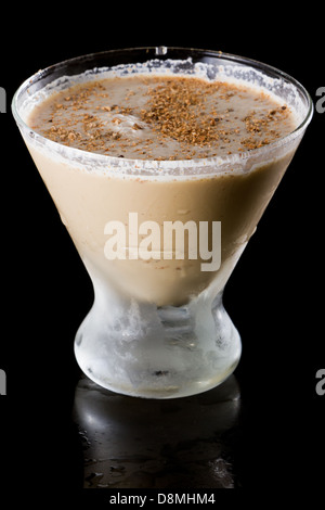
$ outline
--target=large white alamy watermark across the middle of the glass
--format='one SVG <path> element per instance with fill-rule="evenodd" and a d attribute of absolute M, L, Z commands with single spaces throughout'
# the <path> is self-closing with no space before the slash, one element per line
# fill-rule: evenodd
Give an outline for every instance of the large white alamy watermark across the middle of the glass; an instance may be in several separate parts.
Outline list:
<path fill-rule="evenodd" d="M 202 271 L 217 271 L 221 265 L 221 221 L 186 222 L 146 220 L 139 222 L 138 213 L 129 213 L 128 228 L 110 220 L 104 227 L 109 235 L 104 255 L 108 260 L 204 260 Z"/>

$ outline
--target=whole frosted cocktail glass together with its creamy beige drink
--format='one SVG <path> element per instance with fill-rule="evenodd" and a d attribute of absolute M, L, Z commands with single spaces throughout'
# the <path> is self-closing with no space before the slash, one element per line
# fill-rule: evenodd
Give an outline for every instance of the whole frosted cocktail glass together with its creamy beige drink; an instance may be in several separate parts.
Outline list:
<path fill-rule="evenodd" d="M 311 115 L 292 79 L 208 53 L 90 55 L 15 98 L 94 285 L 78 362 L 121 393 L 188 395 L 234 370 L 240 340 L 222 291 Z"/>

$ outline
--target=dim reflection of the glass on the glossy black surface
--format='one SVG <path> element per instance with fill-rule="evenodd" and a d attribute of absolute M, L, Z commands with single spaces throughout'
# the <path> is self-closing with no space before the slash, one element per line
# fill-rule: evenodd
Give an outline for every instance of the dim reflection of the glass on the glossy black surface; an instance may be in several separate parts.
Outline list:
<path fill-rule="evenodd" d="M 234 488 L 232 442 L 240 408 L 234 375 L 186 398 L 152 400 L 76 387 L 84 488 Z"/>

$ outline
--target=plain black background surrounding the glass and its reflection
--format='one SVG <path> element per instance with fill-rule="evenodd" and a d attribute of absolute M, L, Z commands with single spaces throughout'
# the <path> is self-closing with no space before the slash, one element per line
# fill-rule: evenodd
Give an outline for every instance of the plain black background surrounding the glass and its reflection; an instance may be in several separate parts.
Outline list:
<path fill-rule="evenodd" d="M 2 332 L 1 489 L 48 497 L 82 485 L 70 419 L 79 379 L 73 341 L 92 304 L 91 282 L 62 226 L 10 111 L 36 71 L 114 48 L 180 46 L 222 50 L 295 76 L 314 103 L 325 86 L 320 9 L 165 3 L 3 8 L 0 86 Z M 297 8 L 298 9 L 298 8 Z M 322 17 L 323 16 L 323 17 Z M 8 24 L 8 30 L 4 30 Z M 324 128 L 314 117 L 224 294 L 243 356 L 235 375 L 243 411 L 233 462 L 237 487 L 290 495 L 324 481 Z M 191 488 L 191 487 L 188 487 Z"/>

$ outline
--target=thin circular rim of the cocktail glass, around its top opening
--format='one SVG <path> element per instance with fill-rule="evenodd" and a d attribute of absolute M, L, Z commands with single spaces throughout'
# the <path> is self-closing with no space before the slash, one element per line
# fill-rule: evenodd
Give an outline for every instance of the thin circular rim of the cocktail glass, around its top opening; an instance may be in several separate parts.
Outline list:
<path fill-rule="evenodd" d="M 231 63 L 237 63 L 242 65 L 246 65 L 248 67 L 251 67 L 253 69 L 260 71 L 262 74 L 266 75 L 266 72 L 272 74 L 274 77 L 282 78 L 286 82 L 291 84 L 296 90 L 298 89 L 300 93 L 307 100 L 307 112 L 302 120 L 299 123 L 299 125 L 289 133 L 285 135 L 284 137 L 278 138 L 277 140 L 272 141 L 271 143 L 268 143 L 265 145 L 251 149 L 251 150 L 243 150 L 240 152 L 234 152 L 232 154 L 226 154 L 222 156 L 208 156 L 208 157 L 193 157 L 188 160 L 154 160 L 154 158 L 128 158 L 128 157 L 118 157 L 118 156 L 112 156 L 109 154 L 101 154 L 101 153 L 95 153 L 95 152 L 90 152 L 81 149 L 77 149 L 70 145 L 65 145 L 60 142 L 55 142 L 53 140 L 50 140 L 49 138 L 40 135 L 38 131 L 34 130 L 26 124 L 26 122 L 22 118 L 20 112 L 18 112 L 18 97 L 21 93 L 24 92 L 25 89 L 28 89 L 29 86 L 32 84 L 37 82 L 37 80 L 41 79 L 47 73 L 50 73 L 52 69 L 64 67 L 66 65 L 76 63 L 78 61 L 91 61 L 94 60 L 99 56 L 104 56 L 105 54 L 112 54 L 112 53 L 125 53 L 125 54 L 131 54 L 136 51 L 143 51 L 148 54 L 150 51 L 154 52 L 153 56 L 160 56 L 160 55 L 167 55 L 169 51 L 181 51 L 186 53 L 187 52 L 187 58 L 191 56 L 191 53 L 195 52 L 196 55 L 202 55 L 202 56 L 211 56 L 224 61 L 230 61 Z M 151 56 L 148 55 L 147 61 L 150 61 Z M 171 58 L 172 59 L 172 58 Z M 130 62 L 131 63 L 131 62 Z M 87 67 L 91 68 L 91 67 Z M 84 68 L 83 72 L 87 69 Z M 81 74 L 81 73 L 80 73 Z M 54 81 L 54 80 L 53 80 Z M 113 167 L 118 167 L 121 169 L 121 167 L 125 168 L 130 168 L 133 167 L 136 169 L 136 175 L 139 176 L 142 170 L 145 169 L 152 169 L 155 174 L 156 177 L 159 176 L 159 174 L 164 175 L 165 173 L 168 173 L 168 170 L 172 169 L 179 169 L 179 168 L 202 168 L 202 167 L 220 167 L 222 166 L 232 166 L 238 163 L 243 163 L 246 160 L 250 157 L 258 157 L 260 155 L 263 155 L 268 152 L 271 152 L 273 149 L 280 149 L 291 141 L 294 141 L 296 138 L 300 136 L 311 122 L 311 118 L 313 116 L 313 101 L 311 95 L 309 94 L 308 90 L 292 76 L 289 74 L 278 69 L 277 67 L 274 67 L 272 65 L 265 64 L 263 62 L 246 58 L 246 56 L 240 56 L 232 53 L 225 53 L 222 51 L 218 50 L 205 50 L 205 49 L 196 49 L 196 48 L 183 48 L 183 47 L 134 47 L 134 48 L 121 48 L 121 49 L 113 49 L 113 50 L 104 50 L 100 52 L 94 52 L 94 53 L 87 53 L 83 55 L 79 56 L 74 56 L 72 59 L 67 59 L 61 62 L 57 62 L 55 64 L 49 65 L 48 67 L 44 67 L 43 69 L 38 71 L 34 75 L 29 76 L 27 79 L 25 79 L 21 86 L 16 89 L 12 103 L 11 103 L 11 109 L 12 113 L 14 116 L 14 119 L 18 126 L 21 126 L 24 130 L 29 131 L 29 135 L 37 140 L 42 141 L 44 145 L 48 145 L 49 149 L 58 149 L 61 148 L 61 152 L 67 153 L 67 155 L 75 156 L 76 158 L 81 157 L 82 163 L 89 162 L 91 164 L 99 163 L 102 166 L 109 166 Z M 65 155 L 65 154 L 64 154 Z M 128 174 L 128 171 L 127 171 Z M 198 169 L 199 174 L 199 169 Z M 177 175 L 174 175 L 177 177 Z M 204 176 L 203 176 L 204 177 Z"/>

